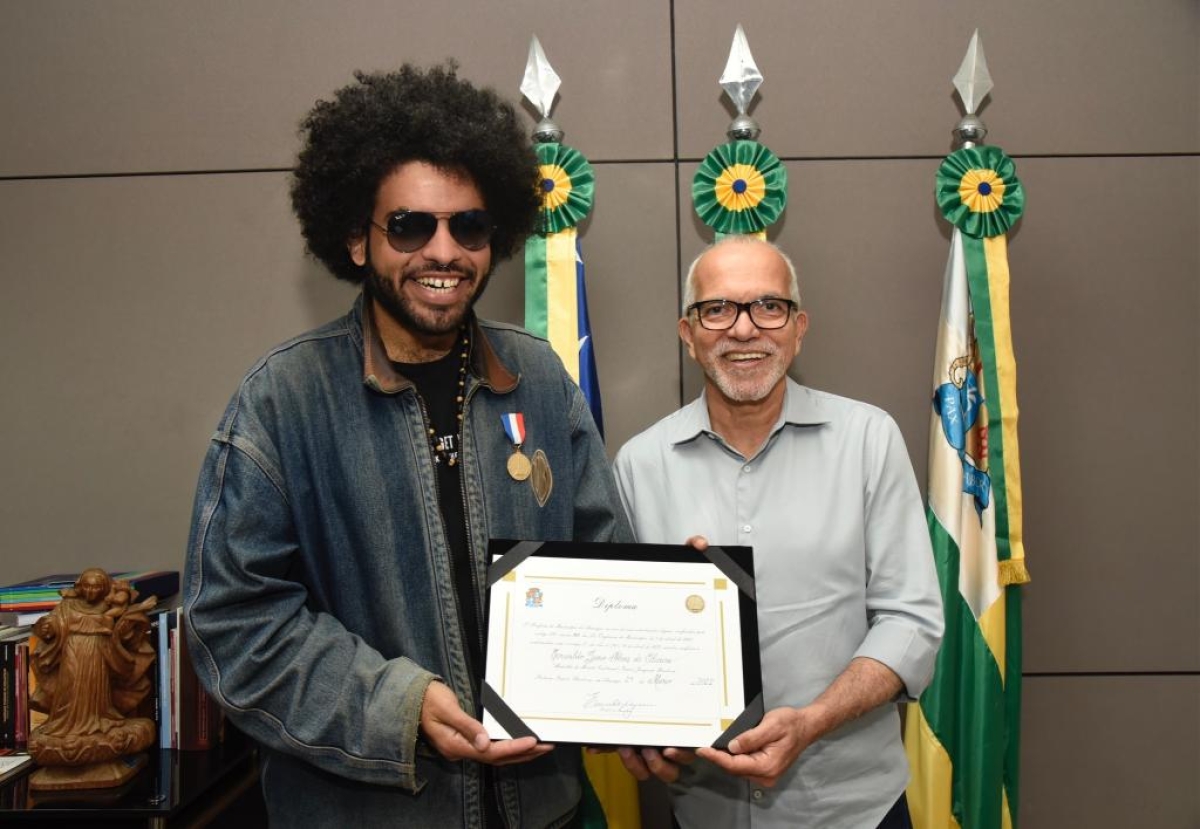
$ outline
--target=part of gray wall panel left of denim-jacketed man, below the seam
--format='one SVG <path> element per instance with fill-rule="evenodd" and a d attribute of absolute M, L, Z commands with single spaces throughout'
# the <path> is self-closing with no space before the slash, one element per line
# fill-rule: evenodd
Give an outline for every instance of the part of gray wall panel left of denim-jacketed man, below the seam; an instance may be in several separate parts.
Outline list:
<path fill-rule="evenodd" d="M 0 250 L 5 581 L 180 566 L 242 373 L 353 290 L 302 257 L 280 174 L 0 182 Z"/>

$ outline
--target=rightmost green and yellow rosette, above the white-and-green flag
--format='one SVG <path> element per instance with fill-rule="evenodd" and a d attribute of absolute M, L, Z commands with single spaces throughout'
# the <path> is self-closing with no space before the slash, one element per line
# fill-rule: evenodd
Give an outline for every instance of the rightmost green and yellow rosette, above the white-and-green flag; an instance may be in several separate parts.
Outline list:
<path fill-rule="evenodd" d="M 974 239 L 1008 232 L 1025 212 L 1016 166 L 998 146 L 965 146 L 937 169 L 935 196 L 942 215 Z"/>

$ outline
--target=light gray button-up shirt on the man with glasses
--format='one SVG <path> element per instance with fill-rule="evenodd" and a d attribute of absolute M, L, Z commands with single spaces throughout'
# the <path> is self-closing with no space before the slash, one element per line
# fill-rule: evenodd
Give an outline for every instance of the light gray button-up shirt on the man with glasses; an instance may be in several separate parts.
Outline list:
<path fill-rule="evenodd" d="M 787 380 L 766 444 L 743 457 L 712 431 L 704 396 L 632 438 L 617 483 L 638 541 L 754 548 L 767 710 L 812 702 L 856 656 L 924 690 L 942 603 L 924 509 L 887 413 Z M 697 761 L 672 787 L 685 828 L 874 828 L 908 765 L 895 707 L 844 725 L 774 788 Z"/>

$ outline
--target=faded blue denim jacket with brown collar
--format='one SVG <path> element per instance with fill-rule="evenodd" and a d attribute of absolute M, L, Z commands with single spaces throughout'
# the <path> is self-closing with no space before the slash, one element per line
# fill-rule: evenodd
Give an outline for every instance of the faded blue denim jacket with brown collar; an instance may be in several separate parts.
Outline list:
<path fill-rule="evenodd" d="M 418 739 L 434 678 L 479 709 L 421 403 L 367 305 L 275 348 L 230 401 L 196 494 L 187 633 L 209 692 L 263 745 L 272 825 L 479 827 L 480 767 Z M 558 358 L 521 329 L 474 325 L 460 462 L 478 583 L 490 537 L 631 539 Z M 509 412 L 526 455 L 550 461 L 545 504 L 506 473 Z M 509 824 L 569 821 L 578 767 L 564 746 L 497 768 Z"/>

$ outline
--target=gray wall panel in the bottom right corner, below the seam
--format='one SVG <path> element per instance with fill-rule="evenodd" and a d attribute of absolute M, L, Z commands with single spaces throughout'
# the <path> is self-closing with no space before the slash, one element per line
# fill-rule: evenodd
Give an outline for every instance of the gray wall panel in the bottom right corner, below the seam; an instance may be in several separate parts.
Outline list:
<path fill-rule="evenodd" d="M 1200 677 L 1033 677 L 1021 829 L 1200 825 Z"/>

